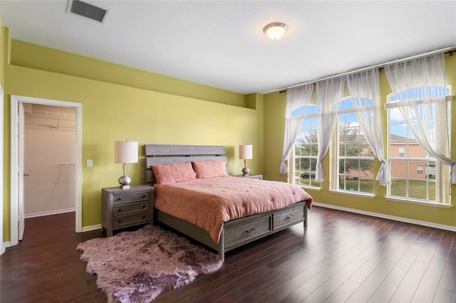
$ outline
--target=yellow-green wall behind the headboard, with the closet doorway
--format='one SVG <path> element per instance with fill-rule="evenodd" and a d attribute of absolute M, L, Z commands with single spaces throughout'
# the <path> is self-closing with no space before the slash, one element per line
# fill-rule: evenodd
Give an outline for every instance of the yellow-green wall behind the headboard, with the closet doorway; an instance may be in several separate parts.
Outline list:
<path fill-rule="evenodd" d="M 138 141 L 140 147 L 223 145 L 227 147 L 229 174 L 241 174 L 244 166 L 239 160 L 239 144 L 253 144 L 254 159 L 249 168 L 262 173 L 262 95 L 240 95 L 14 40 L 11 61 L 4 70 L 4 241 L 10 239 L 11 232 L 11 95 L 82 104 L 83 164 L 93 159 L 93 168 L 83 166 L 83 227 L 101 223 L 101 188 L 118 186 L 122 171 L 120 164 L 114 163 L 114 141 Z M 158 91 L 161 87 L 157 83 L 162 83 L 166 92 Z M 128 171 L 132 184 L 145 183 L 142 148 L 139 163 L 129 164 Z"/>

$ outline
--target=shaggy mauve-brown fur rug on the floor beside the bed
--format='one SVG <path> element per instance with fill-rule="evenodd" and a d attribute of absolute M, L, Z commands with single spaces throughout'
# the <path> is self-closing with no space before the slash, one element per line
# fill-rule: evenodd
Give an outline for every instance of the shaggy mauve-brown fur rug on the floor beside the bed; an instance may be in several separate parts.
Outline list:
<path fill-rule="evenodd" d="M 108 302 L 151 302 L 161 292 L 195 280 L 199 273 L 219 270 L 217 255 L 169 230 L 146 225 L 109 238 L 80 243 L 87 272 Z"/>

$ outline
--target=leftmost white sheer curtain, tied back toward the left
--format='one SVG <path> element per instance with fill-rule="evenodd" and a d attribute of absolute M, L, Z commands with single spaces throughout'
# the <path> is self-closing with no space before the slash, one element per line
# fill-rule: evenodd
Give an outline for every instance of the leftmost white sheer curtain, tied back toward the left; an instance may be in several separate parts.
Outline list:
<path fill-rule="evenodd" d="M 306 107 L 309 105 L 312 92 L 314 92 L 314 85 L 312 83 L 291 87 L 286 90 L 285 137 L 279 168 L 280 174 L 288 174 L 288 167 L 285 161 L 288 159 L 299 129 L 301 129 L 306 114 Z"/>

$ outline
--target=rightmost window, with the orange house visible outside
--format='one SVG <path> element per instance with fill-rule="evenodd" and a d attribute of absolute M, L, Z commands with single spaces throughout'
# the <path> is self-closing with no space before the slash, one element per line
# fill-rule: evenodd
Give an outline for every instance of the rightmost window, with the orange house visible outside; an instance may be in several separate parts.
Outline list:
<path fill-rule="evenodd" d="M 420 95 L 420 90 L 424 89 L 424 87 L 415 87 L 413 94 Z M 442 88 L 434 87 L 434 89 L 441 95 L 445 94 Z M 400 100 L 398 95 L 388 96 L 388 103 L 398 102 L 398 100 Z M 407 104 L 398 104 L 398 106 L 408 107 Z M 447 109 L 448 121 L 451 121 L 450 102 L 447 102 Z M 418 105 L 416 110 L 425 125 L 427 138 L 438 140 L 439 132 L 435 131 L 435 123 L 426 119 L 427 115 L 431 114 L 437 115 L 438 119 L 439 112 L 436 111 L 435 103 Z M 388 196 L 431 203 L 450 203 L 449 186 L 447 186 L 450 174 L 448 166 L 435 161 L 420 146 L 398 107 L 392 106 L 388 110 L 388 123 L 392 181 L 388 186 Z"/>

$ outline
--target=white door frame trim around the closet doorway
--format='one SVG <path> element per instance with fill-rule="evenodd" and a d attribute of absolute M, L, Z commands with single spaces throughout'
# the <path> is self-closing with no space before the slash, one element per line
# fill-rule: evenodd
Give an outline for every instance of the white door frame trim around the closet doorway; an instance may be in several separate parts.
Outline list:
<path fill-rule="evenodd" d="M 32 103 L 60 107 L 73 107 L 76 110 L 76 233 L 82 232 L 82 104 L 60 100 L 41 99 L 11 95 L 11 240 L 10 245 L 19 243 L 19 135 L 18 110 L 19 103 Z"/>

